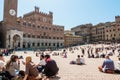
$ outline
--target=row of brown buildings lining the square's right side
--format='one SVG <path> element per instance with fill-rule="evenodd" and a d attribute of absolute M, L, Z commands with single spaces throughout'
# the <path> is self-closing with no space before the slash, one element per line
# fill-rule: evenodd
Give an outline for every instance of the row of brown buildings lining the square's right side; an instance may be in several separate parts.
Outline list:
<path fill-rule="evenodd" d="M 120 16 L 114 22 L 84 24 L 71 29 L 84 43 L 120 43 Z"/>

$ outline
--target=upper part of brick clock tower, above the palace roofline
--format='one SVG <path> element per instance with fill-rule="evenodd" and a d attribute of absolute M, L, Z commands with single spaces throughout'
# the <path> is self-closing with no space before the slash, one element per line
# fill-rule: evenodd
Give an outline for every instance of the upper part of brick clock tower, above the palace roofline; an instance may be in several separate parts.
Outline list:
<path fill-rule="evenodd" d="M 4 0 L 4 17 L 5 22 L 15 22 L 17 19 L 18 0 Z"/>

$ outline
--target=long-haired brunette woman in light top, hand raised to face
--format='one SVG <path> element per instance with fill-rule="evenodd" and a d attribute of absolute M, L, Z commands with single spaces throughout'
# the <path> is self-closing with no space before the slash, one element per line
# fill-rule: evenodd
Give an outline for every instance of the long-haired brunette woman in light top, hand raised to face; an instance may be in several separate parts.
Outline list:
<path fill-rule="evenodd" d="M 10 73 L 9 77 L 13 78 L 17 76 L 16 71 L 20 69 L 20 62 L 17 55 L 12 55 L 10 60 L 6 64 L 6 71 Z"/>

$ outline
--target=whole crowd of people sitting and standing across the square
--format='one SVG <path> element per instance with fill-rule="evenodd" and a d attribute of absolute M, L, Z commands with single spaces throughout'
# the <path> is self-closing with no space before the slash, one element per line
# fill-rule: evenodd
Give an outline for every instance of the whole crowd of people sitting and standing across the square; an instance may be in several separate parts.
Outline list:
<path fill-rule="evenodd" d="M 76 60 L 70 61 L 70 64 L 84 65 L 87 64 L 85 61 L 85 56 L 90 58 L 104 58 L 103 64 L 98 67 L 99 71 L 104 73 L 119 73 L 120 74 L 120 46 L 103 46 L 102 47 L 70 47 L 65 48 L 62 52 L 54 52 L 54 55 L 62 56 L 63 58 L 68 58 L 69 52 L 72 54 L 75 51 L 81 52 L 77 55 Z M 117 52 L 118 61 L 113 61 L 110 57 L 114 56 Z M 27 52 L 24 52 L 27 54 Z M 52 52 L 51 52 L 52 53 Z M 4 56 L 10 56 L 9 61 L 5 62 Z M 44 52 L 36 53 L 36 57 L 40 57 L 39 64 L 35 64 L 32 61 L 31 56 L 26 57 L 26 61 L 22 61 L 25 67 L 25 71 L 20 70 L 20 61 L 23 56 L 17 56 L 15 54 L 9 53 L 8 50 L 1 50 L 0 53 L 0 76 L 5 80 L 42 80 L 39 76 L 46 76 L 47 78 L 56 76 L 59 68 L 56 61 L 51 59 L 49 54 L 44 54 Z M 116 64 L 116 65 L 115 65 Z"/>

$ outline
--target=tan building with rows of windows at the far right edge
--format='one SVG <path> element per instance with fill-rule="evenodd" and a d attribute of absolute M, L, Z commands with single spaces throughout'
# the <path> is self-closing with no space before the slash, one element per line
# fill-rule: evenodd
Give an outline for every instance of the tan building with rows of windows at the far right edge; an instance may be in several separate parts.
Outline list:
<path fill-rule="evenodd" d="M 111 22 L 105 28 L 105 40 L 120 43 L 120 16 L 115 17 L 115 22 Z"/>

